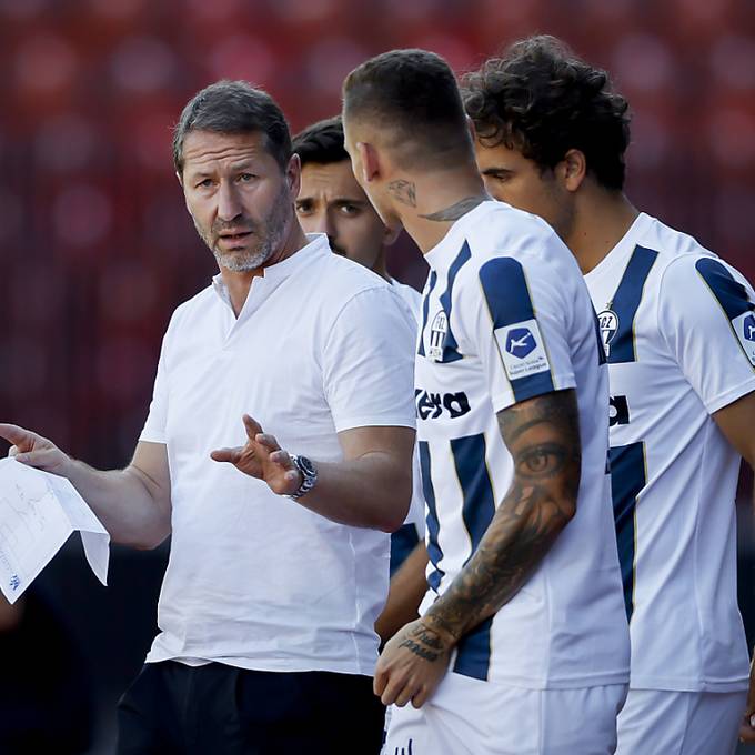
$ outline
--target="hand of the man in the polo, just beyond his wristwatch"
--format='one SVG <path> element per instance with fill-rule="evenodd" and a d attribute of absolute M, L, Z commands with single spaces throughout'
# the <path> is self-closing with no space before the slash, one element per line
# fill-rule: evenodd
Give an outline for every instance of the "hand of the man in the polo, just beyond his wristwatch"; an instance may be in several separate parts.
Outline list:
<path fill-rule="evenodd" d="M 256 420 L 244 414 L 243 422 L 246 444 L 235 449 L 218 449 L 210 456 L 217 462 L 233 464 L 244 474 L 263 480 L 273 493 L 295 493 L 302 483 L 302 476 L 291 456 L 278 445 L 272 435 L 262 432 Z"/>

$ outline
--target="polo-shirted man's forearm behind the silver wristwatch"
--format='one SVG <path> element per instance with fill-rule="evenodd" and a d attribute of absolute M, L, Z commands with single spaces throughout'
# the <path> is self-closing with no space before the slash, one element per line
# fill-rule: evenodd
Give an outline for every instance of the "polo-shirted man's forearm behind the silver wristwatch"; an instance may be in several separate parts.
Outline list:
<path fill-rule="evenodd" d="M 343 462 L 315 462 L 318 484 L 299 499 L 302 506 L 341 524 L 394 532 L 406 519 L 412 470 L 385 452 Z"/>

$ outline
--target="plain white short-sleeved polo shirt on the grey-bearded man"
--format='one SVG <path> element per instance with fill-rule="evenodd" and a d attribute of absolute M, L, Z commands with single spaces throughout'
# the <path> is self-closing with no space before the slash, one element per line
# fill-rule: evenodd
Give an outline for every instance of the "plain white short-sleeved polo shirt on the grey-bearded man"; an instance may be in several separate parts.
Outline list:
<path fill-rule="evenodd" d="M 372 674 L 389 536 L 345 526 L 213 462 L 249 413 L 282 447 L 342 459 L 336 433 L 414 426 L 414 333 L 380 276 L 325 235 L 255 278 L 236 319 L 222 279 L 165 333 L 141 441 L 164 443 L 172 542 L 148 662 Z"/>

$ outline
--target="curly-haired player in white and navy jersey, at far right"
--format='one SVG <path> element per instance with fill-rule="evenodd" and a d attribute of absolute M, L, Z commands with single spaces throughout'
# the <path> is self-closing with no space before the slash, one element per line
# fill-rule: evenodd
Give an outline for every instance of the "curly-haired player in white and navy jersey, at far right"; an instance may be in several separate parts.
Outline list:
<path fill-rule="evenodd" d="M 753 290 L 631 204 L 627 103 L 554 38 L 489 60 L 465 103 L 489 191 L 551 223 L 598 312 L 632 636 L 617 752 L 732 753 L 747 696 L 734 495 L 739 454 L 755 461 Z"/>

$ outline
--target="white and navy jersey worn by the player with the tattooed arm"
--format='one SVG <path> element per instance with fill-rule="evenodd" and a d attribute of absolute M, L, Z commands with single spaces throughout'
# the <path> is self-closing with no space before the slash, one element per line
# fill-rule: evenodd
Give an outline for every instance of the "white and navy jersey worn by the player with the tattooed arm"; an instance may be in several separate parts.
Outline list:
<path fill-rule="evenodd" d="M 608 375 L 576 262 L 543 221 L 492 201 L 425 259 L 415 369 L 430 555 L 422 611 L 470 560 L 513 481 L 496 413 L 576 387 L 576 515 L 512 601 L 462 638 L 451 668 L 535 689 L 626 683 L 606 473 Z"/>

